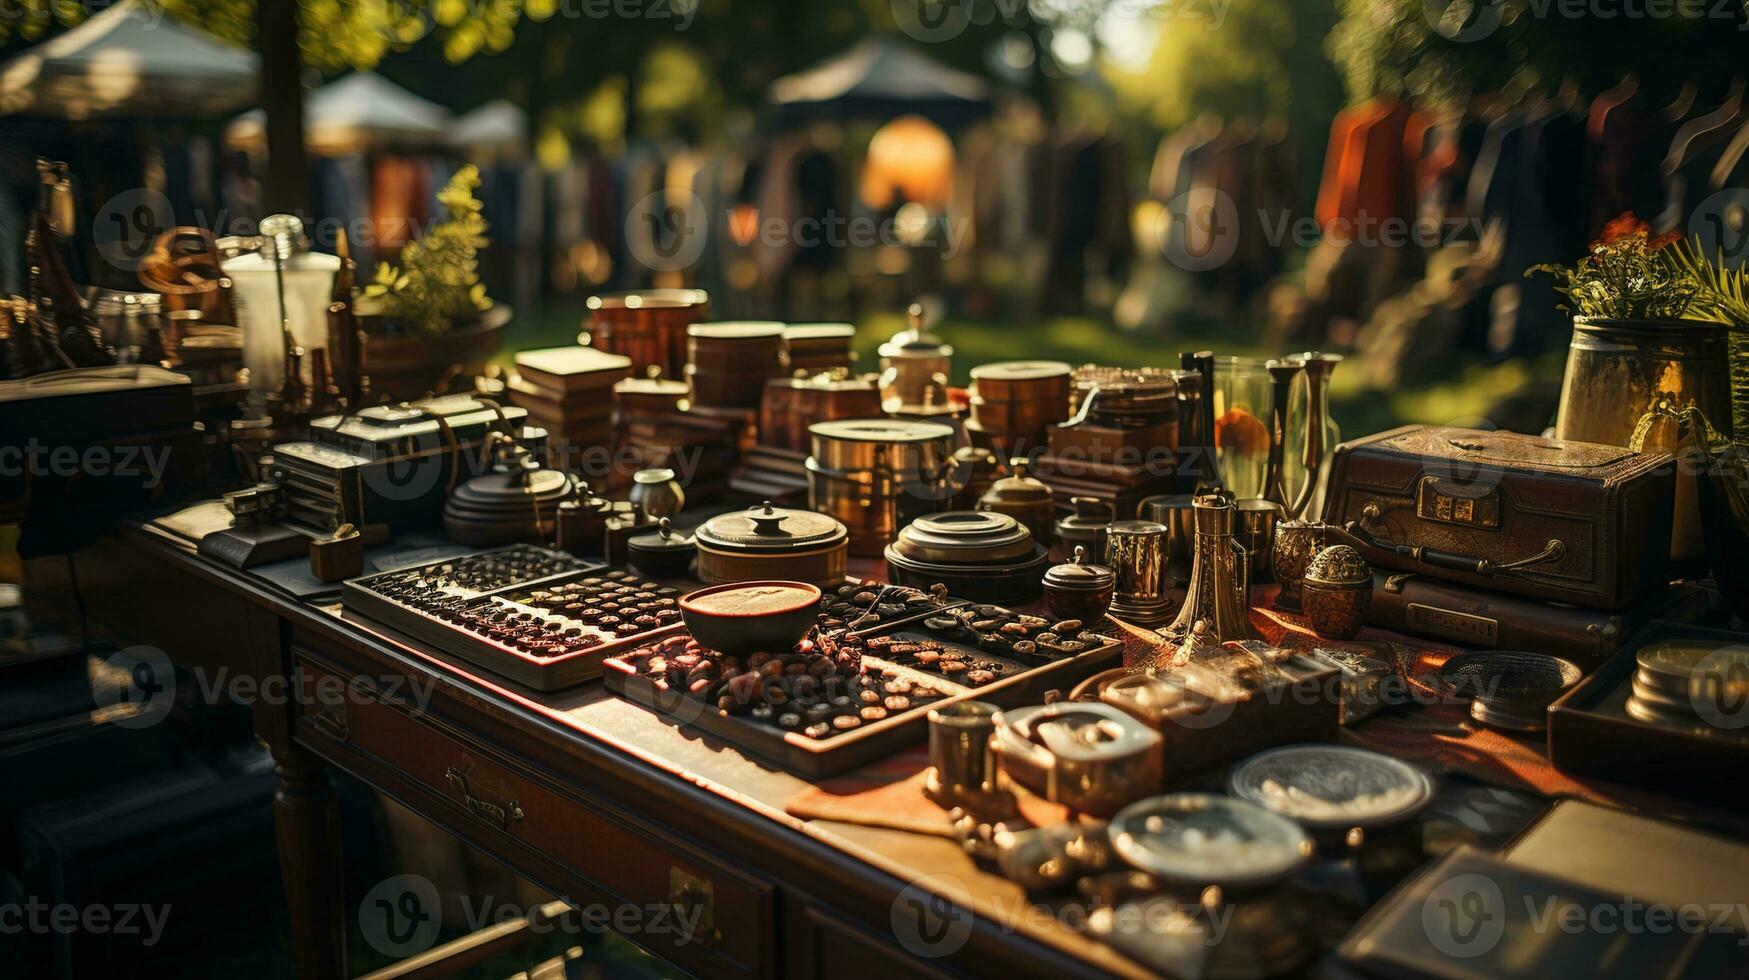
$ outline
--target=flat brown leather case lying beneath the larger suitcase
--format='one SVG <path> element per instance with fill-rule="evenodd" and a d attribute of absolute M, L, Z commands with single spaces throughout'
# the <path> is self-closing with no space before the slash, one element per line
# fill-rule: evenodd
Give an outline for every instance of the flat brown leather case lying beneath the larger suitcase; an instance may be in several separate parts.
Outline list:
<path fill-rule="evenodd" d="M 1581 609 L 1520 598 L 1415 574 L 1373 572 L 1366 623 L 1411 637 L 1478 649 L 1530 649 L 1592 670 L 1653 620 L 1705 623 L 1719 618 L 1716 592 L 1677 583 L 1621 611 Z"/>

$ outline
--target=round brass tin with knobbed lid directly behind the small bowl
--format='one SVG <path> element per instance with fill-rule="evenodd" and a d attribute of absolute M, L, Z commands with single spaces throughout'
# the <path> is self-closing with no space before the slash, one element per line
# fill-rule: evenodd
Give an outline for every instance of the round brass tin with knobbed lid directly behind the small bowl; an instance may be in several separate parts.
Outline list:
<path fill-rule="evenodd" d="M 698 578 L 708 584 L 794 579 L 838 586 L 848 574 L 850 534 L 827 514 L 770 500 L 717 514 L 694 534 Z"/>

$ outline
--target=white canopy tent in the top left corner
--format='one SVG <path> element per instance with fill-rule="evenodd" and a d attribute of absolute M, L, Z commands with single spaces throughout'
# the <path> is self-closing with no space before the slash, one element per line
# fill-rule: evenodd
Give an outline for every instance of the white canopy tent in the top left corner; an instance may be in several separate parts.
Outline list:
<path fill-rule="evenodd" d="M 203 117 L 255 102 L 261 58 L 124 0 L 0 66 L 0 116 Z"/>

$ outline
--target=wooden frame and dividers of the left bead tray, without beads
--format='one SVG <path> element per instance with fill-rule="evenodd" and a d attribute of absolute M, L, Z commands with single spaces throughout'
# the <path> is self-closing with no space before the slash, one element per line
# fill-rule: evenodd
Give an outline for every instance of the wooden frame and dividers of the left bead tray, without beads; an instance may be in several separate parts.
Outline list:
<path fill-rule="evenodd" d="M 442 562 L 432 562 L 432 564 L 442 564 Z M 404 570 L 406 569 L 399 569 L 399 572 Z M 542 579 L 532 579 L 525 583 L 514 583 L 491 592 L 467 592 L 465 595 L 470 604 L 474 602 L 486 604 L 491 602 L 493 598 L 504 598 L 505 602 L 511 602 L 507 597 L 512 593 L 528 592 L 533 588 L 565 584 L 568 581 L 575 581 L 581 578 L 598 576 L 603 570 L 609 570 L 609 567 L 605 564 L 596 562 L 591 564 L 588 569 L 563 572 L 558 576 L 547 576 Z M 381 574 L 392 574 L 392 572 L 381 572 Z M 656 626 L 642 634 L 619 637 L 619 635 L 602 634 L 593 626 L 584 625 L 586 632 L 589 632 L 591 635 L 603 637 L 605 642 L 602 642 L 600 646 L 579 649 L 560 656 L 533 656 L 516 648 L 504 646 L 497 640 L 490 640 L 479 634 L 460 630 L 429 612 L 413 609 L 411 606 L 395 602 L 394 598 L 388 598 L 387 595 L 381 595 L 371 588 L 369 583 L 374 578 L 378 576 L 350 579 L 341 584 L 341 606 L 345 606 L 348 612 L 357 612 L 369 620 L 376 620 L 378 623 L 383 623 L 385 626 L 392 626 L 409 637 L 423 640 L 432 648 L 441 649 L 442 653 L 460 656 L 462 660 L 476 667 L 483 667 L 486 670 L 491 670 L 493 674 L 498 674 L 502 677 L 507 677 L 511 681 L 516 681 L 518 684 L 533 688 L 537 691 L 560 691 L 565 688 L 574 688 L 577 684 L 582 684 L 584 681 L 593 681 L 602 676 L 602 663 L 607 658 L 637 649 L 651 640 L 666 637 L 670 634 L 686 628 L 682 623 L 673 621 L 665 626 Z M 659 579 L 651 579 L 651 581 L 659 581 Z M 456 595 L 463 595 L 462 590 L 456 590 Z M 523 606 L 523 604 L 514 604 L 514 606 L 525 612 L 542 612 L 540 609 L 535 609 L 532 606 Z"/>

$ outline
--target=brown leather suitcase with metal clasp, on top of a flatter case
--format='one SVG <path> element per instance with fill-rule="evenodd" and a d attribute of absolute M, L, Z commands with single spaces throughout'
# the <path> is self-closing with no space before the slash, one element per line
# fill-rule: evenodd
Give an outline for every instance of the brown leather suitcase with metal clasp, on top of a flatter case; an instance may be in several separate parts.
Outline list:
<path fill-rule="evenodd" d="M 1404 425 L 1336 446 L 1329 486 L 1378 567 L 1590 609 L 1669 583 L 1669 453 Z"/>

